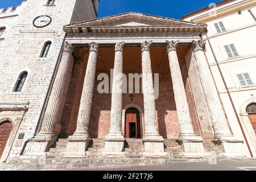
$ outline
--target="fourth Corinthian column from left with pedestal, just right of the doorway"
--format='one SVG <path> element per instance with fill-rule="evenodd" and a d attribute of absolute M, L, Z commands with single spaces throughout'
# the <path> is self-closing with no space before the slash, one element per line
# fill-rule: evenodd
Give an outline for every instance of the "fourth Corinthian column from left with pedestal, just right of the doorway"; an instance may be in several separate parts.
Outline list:
<path fill-rule="evenodd" d="M 146 125 L 143 142 L 145 151 L 163 152 L 163 137 L 159 135 L 156 125 L 155 96 L 150 59 L 151 44 L 152 41 L 145 41 L 141 44 L 144 121 Z"/>

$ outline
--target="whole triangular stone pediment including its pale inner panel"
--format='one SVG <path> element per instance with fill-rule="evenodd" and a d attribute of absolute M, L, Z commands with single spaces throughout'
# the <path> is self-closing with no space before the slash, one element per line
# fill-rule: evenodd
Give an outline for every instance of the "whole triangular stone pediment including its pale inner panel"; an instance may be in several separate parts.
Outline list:
<path fill-rule="evenodd" d="M 189 31 L 191 31 L 191 28 L 197 28 L 197 30 L 199 28 L 200 31 L 203 31 L 203 29 L 206 29 L 207 25 L 204 23 L 192 23 L 184 20 L 164 18 L 162 16 L 141 13 L 126 13 L 68 24 L 67 26 L 64 26 L 63 30 L 67 33 L 81 33 L 90 31 L 115 32 L 116 30 L 118 30 L 117 32 L 125 32 L 128 31 L 127 28 L 137 28 L 137 30 L 139 30 L 138 28 L 144 28 L 146 30 L 147 28 L 155 27 L 175 28 L 180 30 L 181 28 L 184 28 L 184 31 L 188 30 L 188 28 Z"/>

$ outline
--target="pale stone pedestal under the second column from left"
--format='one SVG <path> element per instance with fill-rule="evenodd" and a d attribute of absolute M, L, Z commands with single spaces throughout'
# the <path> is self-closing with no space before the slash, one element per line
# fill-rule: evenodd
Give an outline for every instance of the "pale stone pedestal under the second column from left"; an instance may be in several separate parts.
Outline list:
<path fill-rule="evenodd" d="M 87 134 L 74 134 L 68 137 L 66 151 L 63 155 L 67 156 L 84 156 L 92 139 Z"/>

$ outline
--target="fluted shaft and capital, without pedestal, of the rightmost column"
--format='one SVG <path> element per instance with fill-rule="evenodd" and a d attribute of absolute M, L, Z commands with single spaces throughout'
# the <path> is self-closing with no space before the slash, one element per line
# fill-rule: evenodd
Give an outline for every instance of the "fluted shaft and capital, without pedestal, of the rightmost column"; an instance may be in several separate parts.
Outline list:
<path fill-rule="evenodd" d="M 228 121 L 226 120 L 213 77 L 204 55 L 205 42 L 199 40 L 198 42 L 193 41 L 192 44 L 205 100 L 212 119 L 214 135 L 215 137 L 230 136 L 232 134 L 230 133 Z"/>

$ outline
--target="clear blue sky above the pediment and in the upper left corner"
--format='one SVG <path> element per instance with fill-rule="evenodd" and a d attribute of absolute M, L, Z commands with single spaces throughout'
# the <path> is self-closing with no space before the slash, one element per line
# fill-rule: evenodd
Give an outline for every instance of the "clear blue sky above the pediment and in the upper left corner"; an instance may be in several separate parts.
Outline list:
<path fill-rule="evenodd" d="M 0 8 L 17 6 L 23 0 L 0 0 Z M 36 0 L 35 0 L 36 1 Z M 98 16 L 138 12 L 180 19 L 181 16 L 221 0 L 101 0 Z"/>

